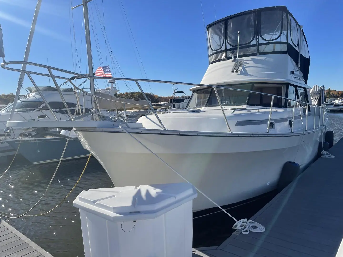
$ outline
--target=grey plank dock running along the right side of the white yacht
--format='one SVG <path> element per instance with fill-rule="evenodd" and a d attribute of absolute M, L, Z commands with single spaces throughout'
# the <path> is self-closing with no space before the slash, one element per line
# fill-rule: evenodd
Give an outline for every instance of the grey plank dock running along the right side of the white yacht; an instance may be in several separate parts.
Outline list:
<path fill-rule="evenodd" d="M 233 234 L 193 257 L 343 256 L 343 139 L 329 152 L 336 157 L 319 158 L 251 218 L 264 232 Z"/>

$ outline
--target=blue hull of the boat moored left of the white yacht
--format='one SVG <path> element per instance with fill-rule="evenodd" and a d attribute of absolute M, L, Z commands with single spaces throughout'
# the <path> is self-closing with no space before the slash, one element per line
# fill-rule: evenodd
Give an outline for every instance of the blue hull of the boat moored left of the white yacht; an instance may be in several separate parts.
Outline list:
<path fill-rule="evenodd" d="M 8 139 L 6 142 L 33 164 L 59 161 L 67 139 L 58 137 Z M 69 140 L 62 160 L 88 156 L 79 140 Z"/>

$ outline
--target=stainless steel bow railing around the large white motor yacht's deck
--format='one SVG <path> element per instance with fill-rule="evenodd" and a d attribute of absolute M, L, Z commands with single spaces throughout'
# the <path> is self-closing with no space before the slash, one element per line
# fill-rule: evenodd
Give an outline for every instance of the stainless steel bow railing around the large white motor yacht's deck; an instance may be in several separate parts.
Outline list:
<path fill-rule="evenodd" d="M 38 66 L 40 68 L 45 68 L 47 69 L 48 71 L 48 74 L 47 73 L 42 73 L 42 72 L 35 72 L 35 71 L 28 71 L 28 70 L 22 70 L 22 69 L 16 69 L 16 68 L 11 68 L 9 67 L 9 65 L 12 65 L 12 64 L 26 64 L 26 65 L 32 65 L 32 66 Z M 57 76 L 57 75 L 54 75 L 52 71 L 57 71 L 57 72 L 62 72 L 62 73 L 66 73 L 66 74 L 69 74 L 69 75 L 73 75 L 73 76 L 80 76 L 80 77 L 83 77 L 83 78 L 92 78 L 92 79 L 115 79 L 115 80 L 119 80 L 119 81 L 134 81 L 136 83 L 136 85 L 138 86 L 139 90 L 141 91 L 141 93 L 143 94 L 145 100 L 147 101 L 148 103 L 148 106 L 149 108 L 153 111 L 156 119 L 158 120 L 159 124 L 161 125 L 161 127 L 166 130 L 165 126 L 163 125 L 161 119 L 159 119 L 155 109 L 153 108 L 151 102 L 149 101 L 149 99 L 147 99 L 142 87 L 140 86 L 139 82 L 152 82 L 152 83 L 165 83 L 165 84 L 179 84 L 179 85 L 188 85 L 188 86 L 200 86 L 200 87 L 207 87 L 207 88 L 213 88 L 214 89 L 214 92 L 215 92 L 215 95 L 216 95 L 216 98 L 218 100 L 218 104 L 222 110 L 222 113 L 223 113 L 223 116 L 224 116 L 224 120 L 225 120 L 225 123 L 226 123 L 226 126 L 227 126 L 227 129 L 228 129 L 228 132 L 232 132 L 231 129 L 230 129 L 230 126 L 229 126 L 229 122 L 227 120 L 227 117 L 226 117 L 226 114 L 225 114 L 225 111 L 224 111 L 224 108 L 223 108 L 223 105 L 222 105 L 222 102 L 220 100 L 220 97 L 218 95 L 218 91 L 217 91 L 217 88 L 220 88 L 220 89 L 225 89 L 225 90 L 234 90 L 234 91 L 241 91 L 241 92 L 247 92 L 247 93 L 252 93 L 252 94 L 258 94 L 258 95 L 264 95 L 264 96 L 270 96 L 272 99 L 271 99 L 271 105 L 270 105 L 270 108 L 256 108 L 256 110 L 260 110 L 260 109 L 269 109 L 269 118 L 268 118 L 268 123 L 267 123 L 267 133 L 269 133 L 269 130 L 270 130 L 270 122 L 271 122 L 271 118 L 272 118 L 272 112 L 273 112 L 273 108 L 275 109 L 275 107 L 273 107 L 273 104 L 274 104 L 274 98 L 280 98 L 280 99 L 284 99 L 284 100 L 290 100 L 290 101 L 293 101 L 294 104 L 293 104 L 293 115 L 292 115 L 292 127 L 291 127 L 291 132 L 293 133 L 293 129 L 294 129 L 294 119 L 295 119 L 295 109 L 296 109 L 296 105 L 298 107 L 301 107 L 303 105 L 306 106 L 306 115 L 305 115 L 305 131 L 307 131 L 307 123 L 308 123 L 308 107 L 309 106 L 312 106 L 314 107 L 314 129 L 316 129 L 316 109 L 319 108 L 320 109 L 320 114 L 319 114 L 319 124 L 318 126 L 324 126 L 325 125 L 325 107 L 324 105 L 322 106 L 317 106 L 317 105 L 314 105 L 312 103 L 307 103 L 307 102 L 303 102 L 301 101 L 300 99 L 298 100 L 295 100 L 295 99 L 291 99 L 291 98 L 287 98 L 287 97 L 282 97 L 282 96 L 276 96 L 276 95 L 272 95 L 272 94 L 267 94 L 267 93 L 262 93 L 262 92 L 257 92 L 257 91 L 251 91 L 251 90 L 245 90 L 245 89 L 238 89 L 238 88 L 229 88 L 229 87 L 225 87 L 225 86 L 214 86 L 214 85 L 204 85 L 204 84 L 196 84 L 196 83 L 185 83 L 185 82 L 175 82 L 175 81 L 163 81 L 163 80 L 154 80 L 154 79 L 138 79 L 138 78 L 121 78 L 121 77 L 98 77 L 98 76 L 90 76 L 90 75 L 87 75 L 87 74 L 79 74 L 79 73 L 75 73 L 75 72 L 72 72 L 72 71 L 68 71 L 68 70 L 63 70 L 63 69 L 59 69 L 59 68 L 56 68 L 56 67 L 52 67 L 52 66 L 48 66 L 48 65 L 44 65 L 44 64 L 39 64 L 39 63 L 33 63 L 33 62 L 24 62 L 24 61 L 9 61 L 9 62 L 5 62 L 5 63 L 2 63 L 1 64 L 1 68 L 3 69 L 6 69 L 6 70 L 11 70 L 11 71 L 17 71 L 17 72 L 24 72 L 28 75 L 28 77 L 30 78 L 31 82 L 33 83 L 34 87 L 36 88 L 38 94 L 40 96 L 42 96 L 42 99 L 45 101 L 44 97 L 43 97 L 43 94 L 42 92 L 40 91 L 40 89 L 37 87 L 36 83 L 34 83 L 32 77 L 30 76 L 30 74 L 34 74 L 34 75 L 40 75 L 40 76 L 46 76 L 46 77 L 51 77 L 61 98 L 62 98 L 62 102 L 64 104 L 64 106 L 67 108 L 68 110 L 68 114 L 70 115 L 70 118 L 71 120 L 73 121 L 74 118 L 73 118 L 73 115 L 71 114 L 68 106 L 67 106 L 67 103 L 66 101 L 64 100 L 63 98 L 63 95 L 61 94 L 60 90 L 59 90 L 59 86 L 56 82 L 56 78 L 58 79 L 64 79 L 65 82 L 63 84 L 66 84 L 66 83 L 70 83 L 74 90 L 75 90 L 75 94 L 76 94 L 76 89 L 82 91 L 83 93 L 86 93 L 86 94 L 89 94 L 89 95 L 92 95 L 91 93 L 89 92 L 86 92 L 84 91 L 83 89 L 75 86 L 75 84 L 71 81 L 71 79 L 69 77 L 63 77 L 63 76 Z M 97 105 L 98 109 L 99 109 L 99 105 L 96 101 L 96 98 L 102 98 L 102 99 L 105 99 L 105 100 L 110 100 L 110 101 L 114 101 L 116 102 L 116 100 L 113 100 L 113 99 L 107 99 L 107 98 L 103 98 L 103 97 L 100 97 L 100 96 L 96 96 L 96 95 L 92 95 L 94 96 L 94 99 L 95 99 L 95 105 Z M 76 94 L 76 98 L 77 97 L 77 94 Z M 79 103 L 79 100 L 78 101 L 78 108 L 80 108 L 80 103 Z M 117 102 L 120 102 L 120 101 L 117 101 Z M 49 106 L 48 102 L 45 101 L 45 104 L 47 105 L 47 107 L 49 108 L 49 110 L 51 111 L 51 113 L 54 115 L 51 107 Z M 140 105 L 140 104 L 138 104 Z M 145 105 L 143 105 L 145 106 Z M 125 103 L 124 103 L 124 109 L 125 109 Z M 247 109 L 248 110 L 254 110 L 254 109 Z M 238 110 L 237 110 L 238 111 Z M 234 112 L 234 111 L 233 111 Z M 232 113 L 233 113 L 232 112 Z M 81 108 L 80 108 L 80 113 L 81 113 Z M 300 115 L 301 115 L 301 110 L 300 110 Z M 55 115 L 54 115 L 55 117 Z M 302 118 L 301 118 L 302 119 Z M 322 122 L 320 121 L 322 119 Z"/>

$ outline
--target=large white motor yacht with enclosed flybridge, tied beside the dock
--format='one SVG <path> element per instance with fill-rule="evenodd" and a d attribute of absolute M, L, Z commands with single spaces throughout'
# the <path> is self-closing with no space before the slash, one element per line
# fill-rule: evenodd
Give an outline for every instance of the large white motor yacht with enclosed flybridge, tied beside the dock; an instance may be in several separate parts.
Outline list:
<path fill-rule="evenodd" d="M 200 84 L 111 78 L 135 81 L 141 91 L 139 81 L 192 85 L 186 109 L 153 110 L 137 122 L 42 126 L 74 127 L 117 187 L 183 181 L 161 158 L 222 206 L 275 189 L 285 162 L 304 169 L 314 160 L 328 124 L 323 87 L 312 103 L 306 85 L 310 57 L 302 26 L 278 6 L 225 17 L 206 31 L 209 66 Z M 22 62 L 1 66 L 11 63 Z M 193 201 L 193 211 L 211 207 L 202 195 Z"/>

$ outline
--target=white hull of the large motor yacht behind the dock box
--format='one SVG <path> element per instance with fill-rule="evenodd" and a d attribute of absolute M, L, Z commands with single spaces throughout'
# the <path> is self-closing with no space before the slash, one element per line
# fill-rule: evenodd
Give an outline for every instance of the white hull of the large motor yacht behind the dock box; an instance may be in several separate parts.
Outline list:
<path fill-rule="evenodd" d="M 202 135 L 204 133 L 138 132 L 128 135 L 116 130 L 76 129 L 76 134 L 83 146 L 105 168 L 115 186 L 184 181 L 132 138 L 133 135 L 223 206 L 275 189 L 286 161 L 296 161 L 301 168 L 305 168 L 317 154 L 322 131 L 288 133 L 287 136 L 231 136 L 228 133 L 206 136 Z M 193 211 L 211 207 L 214 205 L 201 194 L 193 200 Z"/>

